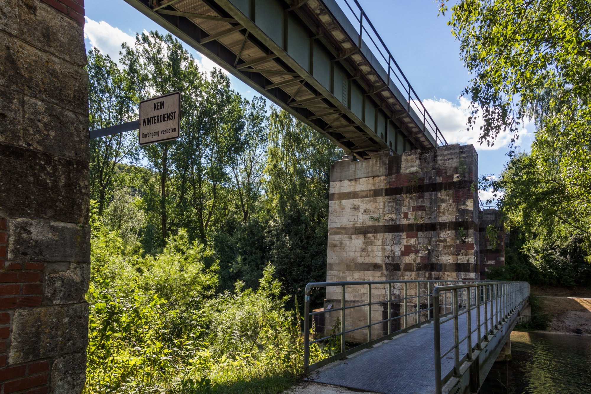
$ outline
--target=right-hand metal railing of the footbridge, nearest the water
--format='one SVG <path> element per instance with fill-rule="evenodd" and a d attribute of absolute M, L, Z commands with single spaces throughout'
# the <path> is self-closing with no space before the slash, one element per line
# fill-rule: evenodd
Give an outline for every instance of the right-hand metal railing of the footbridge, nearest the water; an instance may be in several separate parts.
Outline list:
<path fill-rule="evenodd" d="M 443 386 L 453 376 L 461 376 L 462 364 L 472 362 L 474 351 L 483 348 L 483 343 L 507 323 L 529 295 L 530 285 L 527 282 L 476 282 L 436 286 L 433 289 L 436 393 L 441 393 Z M 466 315 L 466 327 L 460 327 L 462 315 Z M 452 345 L 442 349 L 441 325 L 448 322 L 453 325 Z M 447 336 L 443 339 L 446 343 L 450 342 Z M 441 360 L 449 354 L 453 354 L 453 369 L 441 376 Z"/>

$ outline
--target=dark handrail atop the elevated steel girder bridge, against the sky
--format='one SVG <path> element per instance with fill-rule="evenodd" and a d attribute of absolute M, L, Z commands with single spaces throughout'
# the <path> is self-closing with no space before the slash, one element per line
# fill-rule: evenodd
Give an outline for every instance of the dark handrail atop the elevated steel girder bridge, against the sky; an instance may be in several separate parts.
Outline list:
<path fill-rule="evenodd" d="M 361 48 L 361 46 L 362 46 L 362 43 L 363 43 L 362 35 L 363 35 L 363 31 L 365 31 L 366 35 L 369 37 L 369 40 L 371 40 L 371 42 L 372 42 L 372 44 L 374 44 L 376 50 L 378 50 L 378 53 L 380 54 L 380 56 L 384 59 L 384 61 L 386 63 L 388 63 L 387 86 L 389 86 L 390 80 L 392 80 L 392 82 L 394 82 L 394 84 L 399 89 L 404 90 L 404 93 L 406 93 L 406 97 L 408 97 L 407 111 L 410 113 L 410 109 L 411 109 L 411 105 L 412 105 L 415 109 L 417 109 L 418 113 L 420 113 L 420 115 L 423 116 L 423 132 L 426 131 L 426 128 L 428 126 L 430 131 L 433 132 L 435 135 L 435 144 L 437 145 L 437 141 L 439 140 L 439 142 L 442 145 L 447 145 L 447 141 L 446 141 L 445 137 L 443 136 L 443 134 L 441 133 L 439 127 L 437 126 L 437 124 L 435 123 L 433 118 L 431 117 L 430 113 L 428 113 L 427 108 L 425 108 L 423 101 L 420 99 L 420 97 L 418 97 L 417 92 L 415 92 L 415 90 L 413 89 L 413 86 L 411 86 L 410 82 L 408 82 L 407 77 L 402 72 L 402 69 L 400 68 L 400 66 L 398 66 L 398 63 L 394 59 L 394 56 L 392 56 L 388 47 L 384 43 L 384 40 L 382 40 L 382 37 L 380 37 L 380 35 L 378 34 L 378 31 L 375 29 L 374 24 L 372 24 L 372 22 L 367 17 L 367 14 L 365 13 L 365 11 L 363 11 L 361 4 L 359 4 L 358 0 L 353 0 L 353 2 L 355 2 L 355 5 L 357 6 L 357 8 L 359 10 L 359 17 L 358 17 L 356 12 L 353 11 L 352 6 L 350 5 L 350 1 L 349 0 L 342 0 L 342 1 L 345 2 L 345 4 L 349 7 L 350 11 L 352 12 L 353 16 L 355 17 L 355 19 L 357 19 L 357 22 L 359 22 L 359 43 L 358 43 L 359 48 Z M 366 21 L 366 25 L 369 25 L 371 30 L 374 32 L 375 37 L 378 39 L 379 43 L 381 44 L 382 50 L 384 50 L 386 54 L 382 53 L 382 50 L 380 49 L 379 45 L 376 44 L 374 37 L 372 37 L 371 34 L 369 34 L 369 31 L 367 30 L 365 25 L 363 25 L 364 20 Z M 392 68 L 392 65 L 394 65 L 395 68 Z M 398 70 L 398 73 L 396 72 L 396 70 Z M 391 72 L 392 72 L 392 76 L 394 76 L 395 79 L 393 79 L 391 77 Z M 399 83 L 396 83 L 396 80 L 398 80 Z M 404 82 L 403 82 L 403 80 L 404 80 Z M 418 102 L 418 105 L 417 105 L 417 102 Z"/>

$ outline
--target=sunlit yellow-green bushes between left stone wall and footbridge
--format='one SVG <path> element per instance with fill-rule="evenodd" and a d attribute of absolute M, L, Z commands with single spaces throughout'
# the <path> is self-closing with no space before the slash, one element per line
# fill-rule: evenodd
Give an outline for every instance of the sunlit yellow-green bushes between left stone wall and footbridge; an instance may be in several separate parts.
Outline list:
<path fill-rule="evenodd" d="M 215 294 L 217 263 L 187 233 L 155 256 L 92 216 L 85 393 L 277 393 L 302 372 L 296 311 L 267 265 L 256 291 Z M 319 347 L 313 360 L 326 357 Z"/>

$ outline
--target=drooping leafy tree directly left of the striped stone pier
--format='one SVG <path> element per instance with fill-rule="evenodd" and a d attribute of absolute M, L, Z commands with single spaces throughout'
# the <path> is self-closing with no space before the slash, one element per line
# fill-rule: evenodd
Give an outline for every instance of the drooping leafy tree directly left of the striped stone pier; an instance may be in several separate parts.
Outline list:
<path fill-rule="evenodd" d="M 269 258 L 288 293 L 326 274 L 330 165 L 343 151 L 284 110 L 269 116 L 265 204 Z"/>

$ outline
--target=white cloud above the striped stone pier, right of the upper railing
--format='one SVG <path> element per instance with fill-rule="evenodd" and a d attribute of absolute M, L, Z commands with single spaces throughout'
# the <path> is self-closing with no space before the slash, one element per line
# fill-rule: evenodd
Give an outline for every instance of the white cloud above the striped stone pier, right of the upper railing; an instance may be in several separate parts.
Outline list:
<path fill-rule="evenodd" d="M 446 99 L 425 99 L 423 103 L 449 144 L 473 144 L 476 150 L 484 151 L 506 148 L 511 141 L 512 135 L 505 132 L 499 134 L 493 146 L 488 146 L 486 142 L 481 145 L 478 136 L 480 126 L 483 125 L 482 120 L 476 121 L 474 129 L 466 130 L 467 119 L 470 116 L 470 101 L 465 97 L 460 97 L 458 104 Z M 528 121 L 521 125 L 520 137 L 530 133 L 528 125 L 532 123 Z M 519 144 L 520 139 L 517 141 L 517 145 Z"/>

